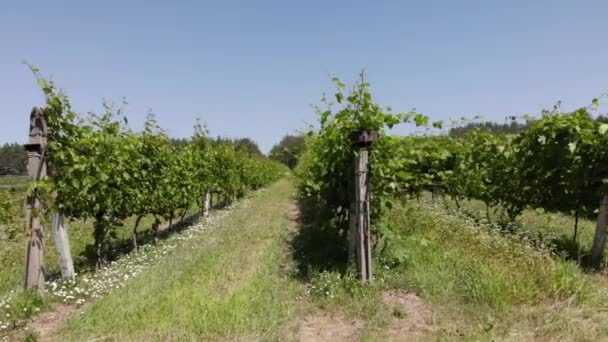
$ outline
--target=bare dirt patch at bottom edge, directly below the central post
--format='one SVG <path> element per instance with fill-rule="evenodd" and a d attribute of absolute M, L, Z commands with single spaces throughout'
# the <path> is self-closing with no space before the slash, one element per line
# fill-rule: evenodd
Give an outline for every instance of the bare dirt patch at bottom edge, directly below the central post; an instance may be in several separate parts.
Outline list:
<path fill-rule="evenodd" d="M 363 322 L 346 320 L 326 313 L 310 316 L 302 321 L 297 340 L 301 342 L 355 341 Z"/>

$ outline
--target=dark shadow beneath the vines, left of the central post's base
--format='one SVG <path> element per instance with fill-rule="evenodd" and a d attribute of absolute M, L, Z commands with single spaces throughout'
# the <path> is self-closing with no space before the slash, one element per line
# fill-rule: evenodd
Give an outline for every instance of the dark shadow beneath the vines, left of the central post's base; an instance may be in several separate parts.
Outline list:
<path fill-rule="evenodd" d="M 312 200 L 300 200 L 298 209 L 299 216 L 294 218 L 298 228 L 291 240 L 297 276 L 307 281 L 315 272 L 344 273 L 348 266 L 348 221 L 324 219 L 322 208 Z"/>

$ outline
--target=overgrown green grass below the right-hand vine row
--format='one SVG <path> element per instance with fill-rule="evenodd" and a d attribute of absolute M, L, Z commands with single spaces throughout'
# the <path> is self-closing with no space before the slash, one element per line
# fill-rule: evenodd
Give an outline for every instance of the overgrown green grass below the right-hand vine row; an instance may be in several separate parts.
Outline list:
<path fill-rule="evenodd" d="M 393 210 L 387 221 L 399 238 L 376 260 L 372 286 L 361 287 L 336 272 L 312 279 L 321 289 L 316 290 L 319 305 L 366 321 L 361 338 L 382 340 L 391 324 L 381 301 L 387 289 L 414 292 L 433 309 L 428 339 L 608 336 L 606 282 L 573 262 L 439 205 L 410 203 Z"/>

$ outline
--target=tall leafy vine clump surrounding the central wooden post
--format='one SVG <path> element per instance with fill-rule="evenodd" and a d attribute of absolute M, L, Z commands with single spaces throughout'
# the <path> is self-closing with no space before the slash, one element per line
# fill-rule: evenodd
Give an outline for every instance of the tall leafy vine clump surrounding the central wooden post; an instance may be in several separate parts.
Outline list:
<path fill-rule="evenodd" d="M 428 117 L 414 112 L 394 114 L 383 109 L 372 100 L 363 73 L 350 94 L 344 93 L 345 85 L 339 79 L 333 81 L 341 108 L 334 111 L 332 104 L 323 99 L 328 109 L 317 109 L 320 129 L 307 134 L 306 152 L 296 171 L 298 192 L 303 199 L 317 201 L 319 216 L 335 223 L 338 230 L 345 228 L 355 197 L 353 161 L 357 149 L 352 146 L 350 135 L 358 131 L 378 132 L 380 139 L 370 154 L 371 224 L 372 231 L 382 236 L 381 218 L 397 193 L 400 181 L 397 172 L 402 161 L 394 153 L 401 140 L 385 135 L 385 131 L 400 123 L 424 125 Z"/>

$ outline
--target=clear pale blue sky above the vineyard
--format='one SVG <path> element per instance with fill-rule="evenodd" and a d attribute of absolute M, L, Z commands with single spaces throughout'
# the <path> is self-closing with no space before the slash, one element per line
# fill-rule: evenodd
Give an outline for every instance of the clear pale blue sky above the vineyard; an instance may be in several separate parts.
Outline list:
<path fill-rule="evenodd" d="M 608 92 L 606 23 L 606 0 L 6 0 L 0 143 L 24 142 L 44 104 L 23 61 L 79 113 L 125 98 L 133 129 L 152 111 L 188 137 L 200 117 L 264 152 L 315 123 L 329 74 L 362 69 L 377 102 L 432 120 L 571 110 Z"/>

